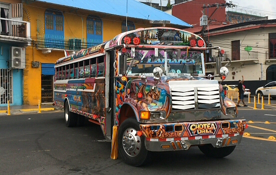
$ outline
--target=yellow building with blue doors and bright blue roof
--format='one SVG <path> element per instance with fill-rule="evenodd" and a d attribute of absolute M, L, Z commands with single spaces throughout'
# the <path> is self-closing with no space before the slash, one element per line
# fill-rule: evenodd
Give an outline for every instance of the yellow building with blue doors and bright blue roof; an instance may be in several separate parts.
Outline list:
<path fill-rule="evenodd" d="M 65 53 L 87 48 L 140 27 L 191 25 L 136 0 L 6 0 L 21 3 L 11 11 L 23 14 L 27 39 L 22 103 L 53 102 L 54 64 Z M 9 1 L 9 2 L 8 2 Z M 57 1 L 57 2 L 56 2 Z M 127 25 L 126 25 L 127 21 Z M 29 25 L 28 25 L 29 24 Z M 1 38 L 1 37 L 0 37 Z M 15 85 L 14 85 L 15 86 Z"/>

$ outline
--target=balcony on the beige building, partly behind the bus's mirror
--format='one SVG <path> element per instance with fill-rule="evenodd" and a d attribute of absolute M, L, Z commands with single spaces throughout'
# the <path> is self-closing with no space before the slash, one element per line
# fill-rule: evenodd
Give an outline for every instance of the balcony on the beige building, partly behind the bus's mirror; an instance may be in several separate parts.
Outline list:
<path fill-rule="evenodd" d="M 215 64 L 215 58 L 217 55 L 213 55 L 212 58 L 207 58 L 206 64 Z M 253 51 L 241 51 L 239 55 L 225 52 L 221 57 L 221 62 L 239 62 L 241 64 L 244 63 L 258 63 L 258 52 Z"/>

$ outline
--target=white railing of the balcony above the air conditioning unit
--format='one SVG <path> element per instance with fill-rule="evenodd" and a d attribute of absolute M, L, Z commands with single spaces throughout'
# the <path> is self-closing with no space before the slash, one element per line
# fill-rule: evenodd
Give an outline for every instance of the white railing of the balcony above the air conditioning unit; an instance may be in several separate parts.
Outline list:
<path fill-rule="evenodd" d="M 30 37 L 30 22 L 0 17 L 0 31 L 1 35 Z"/>

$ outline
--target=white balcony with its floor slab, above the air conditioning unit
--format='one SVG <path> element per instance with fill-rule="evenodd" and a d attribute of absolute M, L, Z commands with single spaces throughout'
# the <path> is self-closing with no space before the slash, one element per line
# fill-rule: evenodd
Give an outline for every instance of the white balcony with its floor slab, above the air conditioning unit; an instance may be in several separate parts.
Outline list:
<path fill-rule="evenodd" d="M 31 44 L 30 22 L 0 17 L 0 40 Z"/>

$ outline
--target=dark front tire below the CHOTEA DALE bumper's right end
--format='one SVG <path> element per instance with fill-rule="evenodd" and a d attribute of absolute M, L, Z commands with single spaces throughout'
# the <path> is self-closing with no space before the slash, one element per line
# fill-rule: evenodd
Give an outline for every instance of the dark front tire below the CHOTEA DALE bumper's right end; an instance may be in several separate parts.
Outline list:
<path fill-rule="evenodd" d="M 235 149 L 234 146 L 226 146 L 226 147 L 213 147 L 211 144 L 204 144 L 198 146 L 198 148 L 203 152 L 205 155 L 209 157 L 221 158 L 229 155 Z"/>

